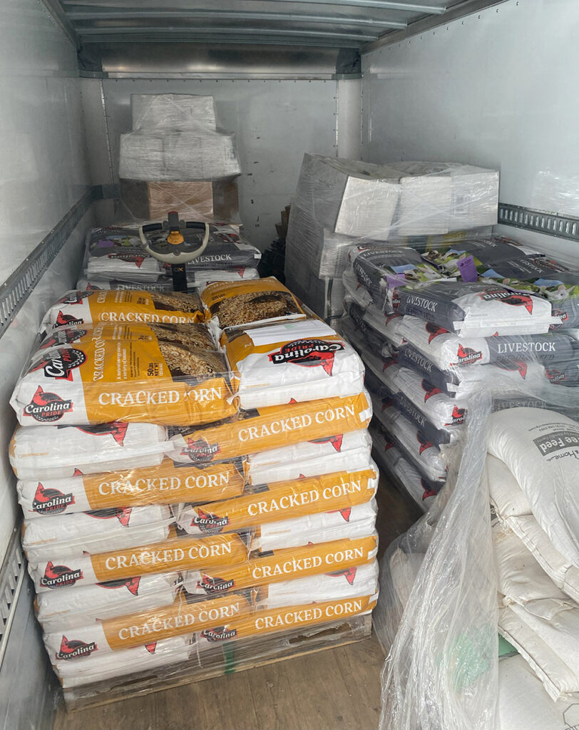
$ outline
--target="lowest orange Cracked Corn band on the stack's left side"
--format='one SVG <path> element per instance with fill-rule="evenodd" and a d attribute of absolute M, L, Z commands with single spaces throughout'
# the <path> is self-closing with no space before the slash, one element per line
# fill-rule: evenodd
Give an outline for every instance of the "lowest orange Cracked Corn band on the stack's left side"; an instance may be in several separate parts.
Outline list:
<path fill-rule="evenodd" d="M 248 615 L 251 605 L 243 596 L 231 594 L 196 603 L 175 602 L 153 611 L 104 619 L 104 637 L 113 651 L 142 646 L 169 637 L 199 631 L 205 627 Z"/>

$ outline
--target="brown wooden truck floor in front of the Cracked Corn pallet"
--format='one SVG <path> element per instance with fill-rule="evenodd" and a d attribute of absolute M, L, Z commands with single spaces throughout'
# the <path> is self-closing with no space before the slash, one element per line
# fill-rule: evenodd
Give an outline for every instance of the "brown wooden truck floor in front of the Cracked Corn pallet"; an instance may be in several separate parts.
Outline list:
<path fill-rule="evenodd" d="M 380 553 L 421 515 L 383 477 L 377 492 Z M 238 674 L 66 712 L 54 730 L 375 730 L 384 654 L 362 641 Z"/>

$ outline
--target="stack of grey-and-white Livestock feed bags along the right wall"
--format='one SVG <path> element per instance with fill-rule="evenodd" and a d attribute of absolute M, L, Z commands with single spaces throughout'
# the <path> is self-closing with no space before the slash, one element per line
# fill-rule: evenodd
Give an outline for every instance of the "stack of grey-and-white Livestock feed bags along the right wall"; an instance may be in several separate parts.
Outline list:
<path fill-rule="evenodd" d="M 518 270 L 532 258 L 505 239 L 479 239 L 477 245 L 495 251 L 497 268 L 501 255 Z M 474 243 L 465 246 L 472 250 Z M 340 331 L 367 366 L 376 458 L 402 477 L 415 499 L 421 495 L 423 507 L 459 453 L 475 393 L 545 397 L 556 385 L 579 384 L 578 343 L 538 291 L 507 289 L 488 270 L 479 280 L 476 267 L 475 282 L 464 281 L 459 269 L 440 266 L 442 257 L 410 247 L 357 246 L 348 258 Z M 533 258 L 543 275 L 560 268 Z"/>

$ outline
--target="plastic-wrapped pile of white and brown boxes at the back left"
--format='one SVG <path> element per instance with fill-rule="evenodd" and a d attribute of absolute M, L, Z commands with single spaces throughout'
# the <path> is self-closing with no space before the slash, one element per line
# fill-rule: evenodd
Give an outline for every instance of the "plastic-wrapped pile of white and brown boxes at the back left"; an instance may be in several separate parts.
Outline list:
<path fill-rule="evenodd" d="M 236 222 L 241 172 L 232 134 L 218 131 L 212 96 L 131 94 L 120 135 L 120 196 L 135 218 L 178 210 L 188 220 Z"/>

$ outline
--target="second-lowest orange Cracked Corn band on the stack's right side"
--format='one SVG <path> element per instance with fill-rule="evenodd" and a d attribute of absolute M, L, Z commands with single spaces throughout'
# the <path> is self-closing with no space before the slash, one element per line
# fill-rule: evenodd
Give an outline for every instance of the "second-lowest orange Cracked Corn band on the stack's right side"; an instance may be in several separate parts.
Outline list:
<path fill-rule="evenodd" d="M 255 558 L 242 565 L 199 572 L 196 592 L 224 593 L 344 570 L 373 560 L 377 545 L 377 535 L 374 534 L 304 545 L 302 548 L 275 550 L 271 555 Z M 190 580 L 191 577 L 190 573 Z M 185 588 L 188 590 L 186 583 Z"/>

